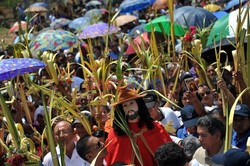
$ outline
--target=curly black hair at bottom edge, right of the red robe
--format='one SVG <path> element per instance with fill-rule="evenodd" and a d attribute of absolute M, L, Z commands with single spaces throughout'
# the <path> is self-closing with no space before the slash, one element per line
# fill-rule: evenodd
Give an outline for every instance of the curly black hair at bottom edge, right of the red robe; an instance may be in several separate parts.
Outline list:
<path fill-rule="evenodd" d="M 158 166 L 184 166 L 187 157 L 183 148 L 174 142 L 167 142 L 156 150 L 155 160 Z"/>

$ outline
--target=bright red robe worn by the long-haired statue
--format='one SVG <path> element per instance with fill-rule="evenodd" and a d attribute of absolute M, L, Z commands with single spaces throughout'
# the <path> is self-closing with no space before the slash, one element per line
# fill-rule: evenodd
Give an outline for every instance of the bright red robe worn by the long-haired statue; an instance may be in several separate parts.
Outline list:
<path fill-rule="evenodd" d="M 139 147 L 144 166 L 157 165 L 152 153 L 154 154 L 156 149 L 160 145 L 166 142 L 172 142 L 172 139 L 170 138 L 166 130 L 163 128 L 163 126 L 157 122 L 153 123 L 154 128 L 152 130 L 147 130 L 146 125 L 142 129 L 140 129 L 138 127 L 138 123 L 129 123 L 129 128 L 134 133 L 144 131 L 142 136 L 145 138 L 147 142 L 146 144 L 151 150 L 150 152 L 150 150 L 148 150 L 148 148 L 144 144 L 142 138 L 140 136 L 137 136 L 136 144 Z M 108 166 L 116 162 L 124 162 L 126 164 L 135 164 L 136 166 L 140 166 L 140 163 L 136 159 L 136 157 L 133 162 L 132 156 L 134 156 L 134 152 L 131 146 L 130 139 L 127 135 L 117 136 L 114 132 L 114 129 L 112 128 L 109 132 L 106 143 L 110 142 L 111 140 L 113 141 L 107 147 L 108 153 L 105 158 L 105 161 L 107 162 Z"/>

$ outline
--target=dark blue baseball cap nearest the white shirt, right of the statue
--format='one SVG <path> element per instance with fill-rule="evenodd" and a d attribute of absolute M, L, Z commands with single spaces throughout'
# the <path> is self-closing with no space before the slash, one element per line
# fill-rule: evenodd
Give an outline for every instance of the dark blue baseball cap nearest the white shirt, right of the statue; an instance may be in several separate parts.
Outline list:
<path fill-rule="evenodd" d="M 197 125 L 198 114 L 195 112 L 193 105 L 186 105 L 181 110 L 181 118 L 184 126 L 189 128 Z"/>

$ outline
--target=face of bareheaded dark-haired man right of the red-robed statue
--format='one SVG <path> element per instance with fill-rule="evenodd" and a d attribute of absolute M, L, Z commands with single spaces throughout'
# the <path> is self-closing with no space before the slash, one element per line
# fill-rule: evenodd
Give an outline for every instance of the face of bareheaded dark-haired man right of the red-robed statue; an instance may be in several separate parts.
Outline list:
<path fill-rule="evenodd" d="M 206 127 L 198 126 L 197 133 L 199 135 L 201 146 L 206 150 L 217 145 L 217 142 L 220 141 L 220 135 L 216 133 L 211 135 Z"/>

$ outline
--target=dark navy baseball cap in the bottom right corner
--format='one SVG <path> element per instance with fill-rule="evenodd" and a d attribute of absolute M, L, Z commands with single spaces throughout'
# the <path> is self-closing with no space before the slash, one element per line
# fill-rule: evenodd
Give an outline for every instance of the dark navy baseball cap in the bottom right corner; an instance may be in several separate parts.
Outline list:
<path fill-rule="evenodd" d="M 241 149 L 232 148 L 225 154 L 214 155 L 212 160 L 216 164 L 223 164 L 225 166 L 249 166 L 250 156 Z"/>

